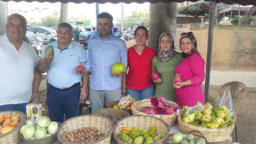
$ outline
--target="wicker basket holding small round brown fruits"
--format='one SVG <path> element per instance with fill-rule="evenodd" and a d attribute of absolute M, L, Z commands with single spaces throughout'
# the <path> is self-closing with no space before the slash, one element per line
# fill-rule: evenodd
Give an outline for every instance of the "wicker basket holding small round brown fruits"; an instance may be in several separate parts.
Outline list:
<path fill-rule="evenodd" d="M 110 144 L 114 124 L 103 115 L 83 115 L 63 122 L 57 132 L 62 144 Z"/>

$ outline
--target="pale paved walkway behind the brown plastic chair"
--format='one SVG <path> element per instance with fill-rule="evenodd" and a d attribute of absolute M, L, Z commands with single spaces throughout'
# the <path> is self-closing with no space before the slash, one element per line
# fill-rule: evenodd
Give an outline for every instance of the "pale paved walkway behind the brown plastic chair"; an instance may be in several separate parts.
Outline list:
<path fill-rule="evenodd" d="M 256 88 L 256 72 L 211 71 L 211 85 L 223 85 L 232 81 L 242 82 L 246 87 Z"/>

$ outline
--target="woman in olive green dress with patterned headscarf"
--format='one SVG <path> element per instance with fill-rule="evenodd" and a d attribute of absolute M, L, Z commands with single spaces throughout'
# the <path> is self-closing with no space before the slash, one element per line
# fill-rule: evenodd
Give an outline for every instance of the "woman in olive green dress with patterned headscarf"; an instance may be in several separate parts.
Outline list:
<path fill-rule="evenodd" d="M 176 102 L 173 87 L 174 69 L 181 60 L 181 53 L 175 51 L 172 35 L 168 32 L 161 34 L 157 55 L 151 62 L 152 72 L 157 72 L 160 77 L 157 81 L 153 80 L 156 83 L 156 97 L 161 95 L 167 100 Z"/>

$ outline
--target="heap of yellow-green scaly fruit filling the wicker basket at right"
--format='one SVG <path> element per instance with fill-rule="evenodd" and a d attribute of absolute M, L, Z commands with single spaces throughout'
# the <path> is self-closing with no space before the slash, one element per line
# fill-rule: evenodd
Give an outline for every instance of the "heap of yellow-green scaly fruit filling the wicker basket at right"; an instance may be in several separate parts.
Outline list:
<path fill-rule="evenodd" d="M 197 102 L 194 107 L 184 106 L 182 120 L 185 123 L 210 129 L 228 127 L 233 121 L 225 105 L 212 110 L 210 103 L 202 104 Z"/>

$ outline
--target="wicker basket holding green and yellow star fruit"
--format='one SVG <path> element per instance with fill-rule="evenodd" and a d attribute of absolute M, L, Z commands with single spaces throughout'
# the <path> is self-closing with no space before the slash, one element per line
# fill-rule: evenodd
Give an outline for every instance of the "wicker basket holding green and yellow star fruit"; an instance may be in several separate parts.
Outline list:
<path fill-rule="evenodd" d="M 118 121 L 113 136 L 118 144 L 164 144 L 170 127 L 155 116 L 128 116 Z"/>

